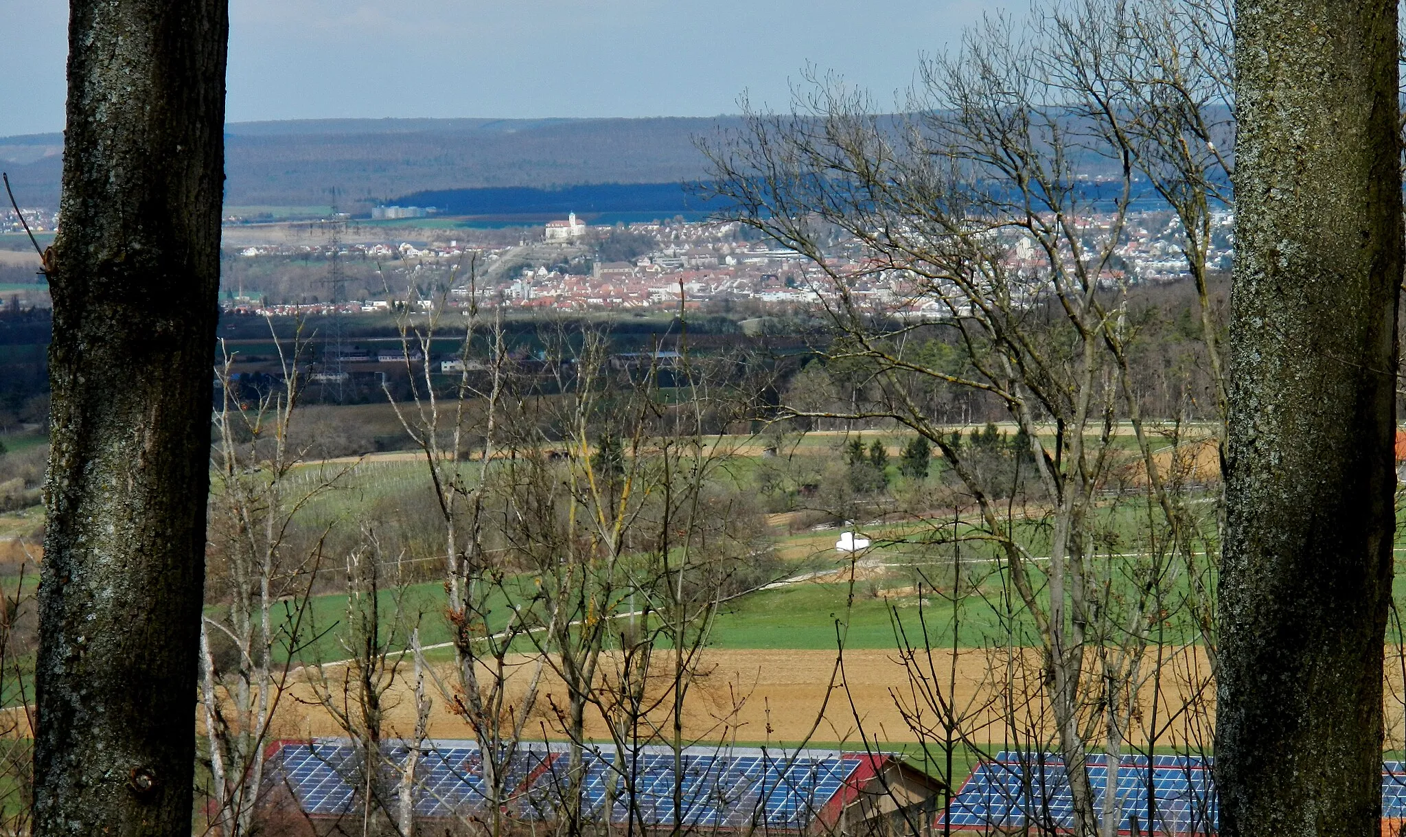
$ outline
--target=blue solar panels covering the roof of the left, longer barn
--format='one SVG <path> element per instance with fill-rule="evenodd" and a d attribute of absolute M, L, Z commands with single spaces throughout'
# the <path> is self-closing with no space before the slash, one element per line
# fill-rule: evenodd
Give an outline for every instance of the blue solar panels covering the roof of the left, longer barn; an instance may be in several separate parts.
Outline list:
<path fill-rule="evenodd" d="M 380 782 L 391 789 L 409 753 L 395 744 L 384 755 Z M 287 786 L 307 813 L 337 816 L 360 807 L 364 760 L 347 741 L 287 743 L 271 758 L 271 781 Z M 558 817 L 572 798 L 571 761 L 561 746 L 524 746 L 498 761 L 506 768 L 503 802 L 522 819 Z M 576 786 L 582 816 L 596 822 L 609 812 L 610 822 L 634 819 L 645 827 L 678 819 L 688 827 L 806 830 L 859 764 L 838 751 L 690 747 L 676 762 L 664 747 L 623 754 L 588 748 Z M 472 816 L 491 796 L 482 754 L 471 741 L 427 743 L 415 775 L 419 816 Z"/>

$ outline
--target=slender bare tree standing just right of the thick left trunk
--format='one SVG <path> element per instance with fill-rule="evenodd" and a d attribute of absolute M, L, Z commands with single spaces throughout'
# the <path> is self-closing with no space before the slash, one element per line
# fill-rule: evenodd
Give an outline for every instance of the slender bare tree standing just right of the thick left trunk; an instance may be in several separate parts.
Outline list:
<path fill-rule="evenodd" d="M 299 543 L 299 513 L 346 477 L 350 466 L 307 466 L 290 439 L 304 343 L 280 352 L 283 385 L 246 392 L 226 353 L 217 371 L 211 492 L 211 602 L 201 625 L 201 709 L 209 748 L 214 823 L 228 837 L 256 829 L 264 747 L 288 685 L 287 661 L 309 639 L 307 615 L 328 530 Z M 301 484 L 297 470 L 314 473 Z"/>

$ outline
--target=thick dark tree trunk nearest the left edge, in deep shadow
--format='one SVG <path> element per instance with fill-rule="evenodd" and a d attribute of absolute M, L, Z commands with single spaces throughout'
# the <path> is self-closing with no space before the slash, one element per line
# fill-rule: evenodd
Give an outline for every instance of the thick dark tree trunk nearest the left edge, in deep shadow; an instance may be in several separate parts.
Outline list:
<path fill-rule="evenodd" d="M 188 834 L 225 0 L 73 0 L 35 834 Z"/>

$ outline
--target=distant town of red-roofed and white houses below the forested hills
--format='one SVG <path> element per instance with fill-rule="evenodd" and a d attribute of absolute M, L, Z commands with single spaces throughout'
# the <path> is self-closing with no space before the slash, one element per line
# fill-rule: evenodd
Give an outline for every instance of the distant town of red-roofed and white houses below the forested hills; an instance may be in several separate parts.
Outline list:
<path fill-rule="evenodd" d="M 420 207 L 377 207 L 377 217 L 406 217 L 404 214 L 425 212 Z M 401 215 L 396 215 L 401 214 Z M 1098 276 L 1099 283 L 1109 287 L 1116 283 L 1160 283 L 1175 281 L 1185 276 L 1182 257 L 1174 257 L 1177 238 L 1175 219 L 1167 221 L 1156 212 L 1135 214 L 1128 238 L 1116 250 L 1116 263 L 1111 260 Z M 1114 222 L 1104 215 L 1085 219 L 1091 228 Z M 1232 259 L 1232 222 L 1229 212 L 1216 212 L 1212 218 L 1212 242 L 1209 260 L 1212 269 L 1225 270 Z M 564 219 L 548 221 L 541 229 L 544 242 L 569 245 L 582 241 L 589 229 L 575 212 Z M 631 224 L 630 231 L 648 236 L 657 246 L 628 262 L 606 262 L 599 257 L 572 256 L 569 263 L 560 259 L 551 269 L 537 262 L 516 267 L 522 250 L 530 246 L 526 241 L 516 245 L 474 248 L 468 242 L 453 239 L 446 242 L 399 243 L 344 243 L 339 253 L 364 259 L 399 259 L 418 263 L 454 264 L 464 253 L 474 250 L 482 257 L 484 270 L 495 277 L 492 283 L 479 283 L 472 288 L 453 287 L 444 305 L 460 308 L 467 305 L 510 305 L 517 308 L 553 308 L 565 311 L 592 309 L 679 309 L 721 302 L 759 304 L 763 307 L 808 307 L 834 301 L 834 277 L 845 277 L 851 304 L 866 309 L 900 318 L 946 318 L 965 315 L 960 308 L 953 311 L 938 294 L 932 293 L 931 281 L 914 273 L 896 269 L 872 259 L 862 246 L 851 242 L 832 249 L 824 263 L 813 262 L 807 255 L 793 249 L 768 245 L 765 242 L 738 241 L 737 224 L 689 224 L 652 222 Z M 1011 276 L 1029 287 L 1039 287 L 1047 269 L 1047 255 L 1032 241 L 1018 232 L 1001 234 L 1008 245 L 1004 267 Z M 288 245 L 246 246 L 239 256 L 256 257 L 266 255 L 291 255 L 294 252 L 330 253 L 330 245 L 290 248 Z M 495 270 L 501 259 L 515 264 L 508 270 Z M 588 267 L 589 266 L 589 267 Z M 416 269 L 419 264 L 416 264 Z M 474 295 L 470 300 L 470 294 Z M 429 300 L 416 301 L 429 309 Z M 299 305 L 254 304 L 252 300 L 232 300 L 231 308 L 247 312 L 285 315 L 311 312 L 360 312 L 385 309 L 388 301 L 340 301 L 307 302 Z"/>

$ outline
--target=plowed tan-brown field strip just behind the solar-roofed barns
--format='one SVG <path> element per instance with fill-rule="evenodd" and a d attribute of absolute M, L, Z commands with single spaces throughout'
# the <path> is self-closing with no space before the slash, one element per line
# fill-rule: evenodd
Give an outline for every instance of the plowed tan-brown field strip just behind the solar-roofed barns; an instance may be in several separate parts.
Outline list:
<path fill-rule="evenodd" d="M 915 663 L 918 671 L 928 677 L 928 688 L 941 684 L 948 689 L 953 671 L 949 651 L 934 651 L 929 661 L 924 657 Z M 984 650 L 965 650 L 957 654 L 955 671 L 956 706 L 969 717 L 963 726 L 976 730 L 980 740 L 1005 741 L 1017 737 L 1011 723 L 1021 730 L 1039 727 L 1049 730 L 1049 712 L 1043 705 L 1039 678 L 1033 671 L 1038 657 L 1031 650 L 1012 657 L 995 657 Z M 610 682 L 617 658 L 607 657 L 602 668 L 607 670 L 600 682 Z M 920 734 L 914 726 L 931 724 L 936 716 L 931 706 L 915 698 L 924 689 L 921 681 L 914 686 L 910 667 L 894 651 L 858 650 L 844 656 L 844 664 L 837 665 L 834 651 L 811 650 L 717 650 L 704 656 L 703 674 L 692 682 L 685 702 L 685 734 L 700 740 L 737 741 L 859 741 L 860 730 L 870 740 L 917 741 Z M 672 670 L 672 656 L 659 654 L 654 661 L 659 672 L 657 688 L 651 694 L 664 694 L 664 682 Z M 409 665 L 405 665 L 405 674 Z M 1149 668 L 1150 670 L 1150 668 Z M 329 670 L 333 678 L 332 692 L 342 701 L 339 678 L 343 670 Z M 1168 717 L 1171 705 L 1181 705 L 1189 692 L 1185 682 L 1204 678 L 1206 661 L 1199 651 L 1182 653 L 1174 664 L 1167 665 L 1163 689 L 1166 691 L 1160 709 L 1161 723 Z M 529 657 L 515 660 L 509 694 L 520 701 L 534 674 L 538 661 Z M 453 667 L 436 667 L 437 677 L 454 682 Z M 486 672 L 485 672 L 486 674 Z M 550 665 L 540 668 L 538 701 L 533 709 L 530 727 L 533 737 L 561 737 L 558 710 L 565 709 L 565 689 L 554 677 Z M 344 734 L 326 709 L 319 708 L 314 688 L 307 678 L 299 678 L 291 694 L 281 701 L 277 734 L 280 737 L 339 736 Z M 1012 684 L 1002 686 L 1002 682 Z M 1095 681 L 1097 682 L 1097 681 Z M 432 689 L 433 691 L 433 689 Z M 1031 695 L 1021 706 L 1011 706 L 995 696 L 1021 692 Z M 1150 706 L 1152 685 L 1143 689 L 1143 702 Z M 1208 694 L 1206 698 L 1211 695 Z M 291 698 L 291 699 L 290 699 Z M 444 710 L 447 702 L 434 694 L 434 710 L 430 717 L 432 737 L 460 739 L 468 736 L 467 724 Z M 413 727 L 413 702 L 406 684 L 398 682 L 387 698 L 387 734 L 401 736 Z M 903 709 L 900 709 L 900 705 Z M 908 720 L 905 720 L 905 713 Z M 661 729 L 669 726 L 666 708 L 651 713 L 651 722 Z M 914 722 L 914 723 L 910 723 Z M 1161 739 L 1202 737 L 1209 740 L 1209 729 L 1164 730 Z M 607 731 L 599 710 L 588 713 L 586 734 L 606 739 Z M 1135 736 L 1140 737 L 1140 736 Z"/>

